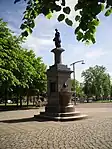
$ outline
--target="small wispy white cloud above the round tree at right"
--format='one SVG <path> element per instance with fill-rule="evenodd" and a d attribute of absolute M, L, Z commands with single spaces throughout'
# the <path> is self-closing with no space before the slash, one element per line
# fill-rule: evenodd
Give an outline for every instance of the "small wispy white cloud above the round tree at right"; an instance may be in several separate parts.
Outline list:
<path fill-rule="evenodd" d="M 107 54 L 107 52 L 104 52 L 102 49 L 91 49 L 90 52 L 85 54 L 86 58 L 98 58 L 100 56 L 103 56 Z"/>

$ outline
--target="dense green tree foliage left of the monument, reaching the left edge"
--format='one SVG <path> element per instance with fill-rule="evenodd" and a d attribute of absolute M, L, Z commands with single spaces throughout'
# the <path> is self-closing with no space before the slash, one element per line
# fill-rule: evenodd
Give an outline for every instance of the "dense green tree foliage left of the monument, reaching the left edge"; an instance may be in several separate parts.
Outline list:
<path fill-rule="evenodd" d="M 0 19 L 0 96 L 5 103 L 11 94 L 19 99 L 29 89 L 45 90 L 46 65 L 21 43 Z"/>

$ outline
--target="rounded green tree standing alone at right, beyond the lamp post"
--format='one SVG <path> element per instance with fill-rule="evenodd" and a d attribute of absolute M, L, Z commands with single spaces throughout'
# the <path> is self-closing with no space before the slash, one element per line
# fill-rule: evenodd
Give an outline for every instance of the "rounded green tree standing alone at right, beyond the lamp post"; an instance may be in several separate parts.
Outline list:
<path fill-rule="evenodd" d="M 103 66 L 89 67 L 82 72 L 84 77 L 84 92 L 88 97 L 95 96 L 107 98 L 110 95 L 111 83 L 110 76 L 106 73 L 106 68 Z"/>

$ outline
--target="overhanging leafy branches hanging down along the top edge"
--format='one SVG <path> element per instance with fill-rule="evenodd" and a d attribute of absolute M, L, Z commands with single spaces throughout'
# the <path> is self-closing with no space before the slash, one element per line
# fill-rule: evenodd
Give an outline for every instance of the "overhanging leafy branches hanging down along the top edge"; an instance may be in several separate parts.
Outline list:
<path fill-rule="evenodd" d="M 15 0 L 14 3 L 20 0 Z M 73 26 L 73 21 L 69 19 L 71 8 L 66 4 L 67 0 L 24 0 L 27 2 L 26 10 L 24 12 L 23 24 L 21 29 L 23 30 L 22 36 L 27 37 L 32 33 L 32 29 L 35 27 L 35 18 L 39 14 L 44 14 L 48 19 L 52 17 L 53 12 L 60 12 L 58 21 L 65 21 L 69 26 Z M 79 23 L 75 29 L 75 34 L 78 41 L 95 43 L 96 27 L 99 25 L 98 15 L 105 10 L 105 16 L 109 16 L 112 13 L 112 1 L 111 0 L 78 0 L 77 4 L 74 1 L 74 14 L 79 11 L 79 15 L 75 17 L 75 20 Z M 63 11 L 63 12 L 62 12 Z"/>

